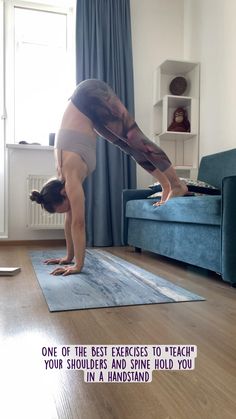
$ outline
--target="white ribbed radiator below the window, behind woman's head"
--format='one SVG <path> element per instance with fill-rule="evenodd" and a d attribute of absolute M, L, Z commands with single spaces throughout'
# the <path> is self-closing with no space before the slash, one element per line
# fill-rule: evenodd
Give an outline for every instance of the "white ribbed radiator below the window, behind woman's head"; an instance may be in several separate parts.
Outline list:
<path fill-rule="evenodd" d="M 40 191 L 45 182 L 50 179 L 50 175 L 29 175 L 27 178 L 27 227 L 33 230 L 40 229 L 63 229 L 64 214 L 50 214 L 41 208 L 41 205 L 32 202 L 29 195 L 33 189 Z"/>

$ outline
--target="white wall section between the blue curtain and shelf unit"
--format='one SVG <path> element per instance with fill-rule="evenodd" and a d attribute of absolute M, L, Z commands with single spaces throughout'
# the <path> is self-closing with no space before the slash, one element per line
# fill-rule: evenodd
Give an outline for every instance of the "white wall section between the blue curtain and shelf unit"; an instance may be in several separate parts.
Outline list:
<path fill-rule="evenodd" d="M 153 73 L 167 58 L 183 59 L 184 0 L 130 0 L 134 63 L 135 119 L 153 138 Z M 137 168 L 138 187 L 152 177 Z"/>

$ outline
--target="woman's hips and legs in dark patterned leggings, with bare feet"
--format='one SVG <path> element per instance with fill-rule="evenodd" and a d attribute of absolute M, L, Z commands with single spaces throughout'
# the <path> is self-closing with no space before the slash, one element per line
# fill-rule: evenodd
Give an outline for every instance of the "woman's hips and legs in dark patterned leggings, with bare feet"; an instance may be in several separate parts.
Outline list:
<path fill-rule="evenodd" d="M 75 90 L 75 106 L 106 140 L 130 154 L 162 185 L 162 202 L 187 192 L 164 151 L 150 141 L 112 89 L 100 80 L 86 80 Z"/>

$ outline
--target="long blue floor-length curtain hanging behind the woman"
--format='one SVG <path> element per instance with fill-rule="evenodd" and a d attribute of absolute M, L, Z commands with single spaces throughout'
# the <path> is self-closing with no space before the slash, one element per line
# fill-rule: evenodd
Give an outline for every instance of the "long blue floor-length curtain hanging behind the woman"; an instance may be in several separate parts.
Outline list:
<path fill-rule="evenodd" d="M 134 115 L 129 0 L 77 0 L 76 80 L 108 83 Z M 122 190 L 136 187 L 135 162 L 102 138 L 84 183 L 88 246 L 120 246 Z"/>

